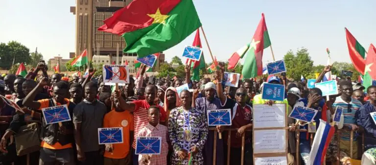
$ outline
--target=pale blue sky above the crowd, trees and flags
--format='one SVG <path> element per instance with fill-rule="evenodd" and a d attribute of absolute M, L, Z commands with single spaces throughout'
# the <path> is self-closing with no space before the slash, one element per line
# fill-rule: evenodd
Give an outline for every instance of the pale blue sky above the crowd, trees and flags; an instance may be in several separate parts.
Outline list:
<path fill-rule="evenodd" d="M 252 40 L 261 13 L 276 60 L 290 49 L 306 47 L 315 65 L 326 64 L 326 47 L 332 62 L 351 62 L 344 27 L 368 50 L 376 44 L 375 0 L 194 0 L 213 55 L 227 60 L 234 51 Z M 21 5 L 22 4 L 22 5 Z M 0 42 L 15 40 L 47 60 L 74 51 L 75 0 L 1 0 Z M 165 52 L 166 60 L 182 56 L 194 33 Z M 211 61 L 201 34 L 204 55 Z M 272 61 L 270 48 L 263 61 Z"/>

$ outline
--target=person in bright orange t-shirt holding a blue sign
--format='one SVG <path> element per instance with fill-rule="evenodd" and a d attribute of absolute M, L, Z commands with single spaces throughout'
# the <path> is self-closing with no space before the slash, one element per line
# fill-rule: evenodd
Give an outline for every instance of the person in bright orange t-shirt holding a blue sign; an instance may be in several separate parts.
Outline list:
<path fill-rule="evenodd" d="M 132 153 L 130 150 L 131 138 L 133 138 L 133 115 L 120 108 L 118 99 L 114 97 L 115 110 L 110 111 L 104 116 L 103 127 L 122 127 L 123 143 L 108 144 L 104 152 L 104 165 L 131 165 Z"/>

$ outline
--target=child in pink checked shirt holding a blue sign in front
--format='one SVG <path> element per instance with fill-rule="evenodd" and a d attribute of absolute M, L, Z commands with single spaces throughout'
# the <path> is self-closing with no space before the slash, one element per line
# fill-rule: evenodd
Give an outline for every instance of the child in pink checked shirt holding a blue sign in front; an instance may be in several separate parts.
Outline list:
<path fill-rule="evenodd" d="M 139 165 L 167 165 L 167 127 L 159 124 L 161 112 L 157 106 L 150 106 L 147 115 L 149 124 L 141 129 L 138 137 L 162 137 L 162 148 L 160 155 L 140 155 Z"/>

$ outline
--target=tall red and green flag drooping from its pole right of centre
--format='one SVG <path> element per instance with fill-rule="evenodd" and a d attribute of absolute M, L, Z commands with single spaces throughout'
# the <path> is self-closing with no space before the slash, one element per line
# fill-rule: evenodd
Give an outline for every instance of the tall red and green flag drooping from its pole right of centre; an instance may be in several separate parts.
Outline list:
<path fill-rule="evenodd" d="M 264 48 L 271 45 L 268 29 L 266 28 L 264 14 L 261 14 L 261 20 L 258 23 L 255 34 L 253 35 L 252 42 L 249 44 L 246 58 L 243 65 L 241 74 L 243 79 L 248 79 L 262 75 L 262 53 Z"/>

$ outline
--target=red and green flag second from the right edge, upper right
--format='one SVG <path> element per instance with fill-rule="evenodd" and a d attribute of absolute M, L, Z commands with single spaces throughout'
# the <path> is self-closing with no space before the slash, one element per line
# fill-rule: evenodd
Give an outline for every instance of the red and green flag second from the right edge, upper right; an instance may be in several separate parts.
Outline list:
<path fill-rule="evenodd" d="M 362 47 L 358 41 L 352 36 L 349 30 L 346 30 L 347 47 L 349 48 L 350 59 L 354 65 L 356 71 L 364 75 L 364 69 L 366 66 L 366 60 L 364 60 L 364 47 Z"/>

